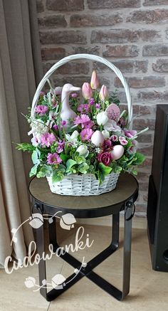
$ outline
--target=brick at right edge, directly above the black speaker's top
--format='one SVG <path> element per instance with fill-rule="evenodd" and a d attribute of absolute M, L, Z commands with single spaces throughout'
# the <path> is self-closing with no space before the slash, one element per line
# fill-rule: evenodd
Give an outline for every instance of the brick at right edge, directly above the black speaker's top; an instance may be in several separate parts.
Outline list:
<path fill-rule="evenodd" d="M 168 92 L 141 91 L 137 94 L 139 100 L 154 101 L 154 102 L 168 102 Z"/>

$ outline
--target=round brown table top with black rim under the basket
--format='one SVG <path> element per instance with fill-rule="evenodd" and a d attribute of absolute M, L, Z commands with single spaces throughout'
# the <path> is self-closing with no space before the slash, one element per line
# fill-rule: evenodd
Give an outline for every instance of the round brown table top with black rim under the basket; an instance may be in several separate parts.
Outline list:
<path fill-rule="evenodd" d="M 138 194 L 138 183 L 132 174 L 121 174 L 115 190 L 99 196 L 62 196 L 53 194 L 46 178 L 33 178 L 29 184 L 29 192 L 42 204 L 58 209 L 93 210 L 109 206 L 122 206 L 130 198 L 135 201 Z"/>

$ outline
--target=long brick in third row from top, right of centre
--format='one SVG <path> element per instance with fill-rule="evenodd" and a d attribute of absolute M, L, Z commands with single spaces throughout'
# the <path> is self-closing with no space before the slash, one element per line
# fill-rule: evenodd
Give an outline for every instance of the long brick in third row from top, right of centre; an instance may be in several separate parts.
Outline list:
<path fill-rule="evenodd" d="M 130 29 L 110 29 L 106 31 L 92 31 L 91 43 L 127 43 L 137 41 L 153 41 L 160 38 L 157 30 L 130 30 Z"/>

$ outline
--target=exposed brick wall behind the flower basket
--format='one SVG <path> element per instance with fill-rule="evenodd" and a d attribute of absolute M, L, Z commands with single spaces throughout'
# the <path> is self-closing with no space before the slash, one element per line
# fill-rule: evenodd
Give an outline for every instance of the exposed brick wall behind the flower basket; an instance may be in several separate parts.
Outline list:
<path fill-rule="evenodd" d="M 149 132 L 139 138 L 146 154 L 139 169 L 137 216 L 145 216 L 147 184 L 152 163 L 155 110 L 168 102 L 168 0 L 36 0 L 43 70 L 73 53 L 93 53 L 117 65 L 130 85 L 134 127 Z M 120 81 L 100 63 L 68 63 L 53 75 L 56 85 L 90 80 L 97 68 L 101 82 L 119 90 Z"/>

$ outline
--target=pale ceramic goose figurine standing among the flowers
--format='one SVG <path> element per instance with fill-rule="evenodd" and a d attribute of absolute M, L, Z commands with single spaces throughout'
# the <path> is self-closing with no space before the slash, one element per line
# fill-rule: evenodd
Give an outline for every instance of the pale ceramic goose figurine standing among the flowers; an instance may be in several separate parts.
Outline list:
<path fill-rule="evenodd" d="M 70 108 L 69 105 L 69 95 L 70 93 L 79 92 L 80 88 L 73 86 L 70 83 L 66 83 L 63 85 L 63 90 L 61 93 L 61 119 L 66 121 L 66 125 L 68 125 L 68 120 L 76 117 L 76 113 Z"/>

